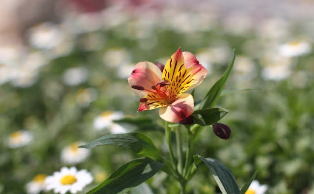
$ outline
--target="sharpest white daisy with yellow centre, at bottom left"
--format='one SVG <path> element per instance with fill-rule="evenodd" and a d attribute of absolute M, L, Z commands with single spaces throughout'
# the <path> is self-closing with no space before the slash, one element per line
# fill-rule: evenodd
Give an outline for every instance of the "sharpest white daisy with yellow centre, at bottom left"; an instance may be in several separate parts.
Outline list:
<path fill-rule="evenodd" d="M 76 194 L 93 181 L 93 177 L 87 170 L 77 170 L 75 167 L 62 167 L 60 171 L 54 172 L 45 180 L 46 190 L 53 190 L 53 193 L 65 194 L 68 191 Z"/>

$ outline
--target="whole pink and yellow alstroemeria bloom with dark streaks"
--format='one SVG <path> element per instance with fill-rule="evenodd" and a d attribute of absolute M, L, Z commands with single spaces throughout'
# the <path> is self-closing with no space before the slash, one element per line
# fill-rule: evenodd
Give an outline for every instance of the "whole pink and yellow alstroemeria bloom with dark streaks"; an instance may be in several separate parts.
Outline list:
<path fill-rule="evenodd" d="M 140 97 L 138 111 L 160 108 L 163 120 L 180 122 L 194 111 L 192 95 L 184 92 L 198 86 L 207 73 L 194 54 L 179 48 L 162 72 L 151 62 L 137 63 L 128 82 Z"/>

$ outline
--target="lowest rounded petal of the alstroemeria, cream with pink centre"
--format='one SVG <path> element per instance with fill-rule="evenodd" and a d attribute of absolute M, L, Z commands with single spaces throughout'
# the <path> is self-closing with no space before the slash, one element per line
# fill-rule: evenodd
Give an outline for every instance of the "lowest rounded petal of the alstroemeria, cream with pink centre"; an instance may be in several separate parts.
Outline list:
<path fill-rule="evenodd" d="M 193 111 L 194 99 L 192 95 L 184 93 L 169 106 L 161 107 L 159 116 L 168 122 L 179 122 L 192 115 Z"/>

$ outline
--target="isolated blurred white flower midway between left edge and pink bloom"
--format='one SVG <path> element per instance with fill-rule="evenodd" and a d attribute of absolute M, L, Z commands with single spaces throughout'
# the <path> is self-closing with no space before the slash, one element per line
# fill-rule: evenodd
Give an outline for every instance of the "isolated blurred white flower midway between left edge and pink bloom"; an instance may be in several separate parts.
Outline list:
<path fill-rule="evenodd" d="M 88 69 L 85 67 L 69 68 L 63 73 L 63 82 L 68 86 L 76 86 L 84 83 L 88 77 Z"/>

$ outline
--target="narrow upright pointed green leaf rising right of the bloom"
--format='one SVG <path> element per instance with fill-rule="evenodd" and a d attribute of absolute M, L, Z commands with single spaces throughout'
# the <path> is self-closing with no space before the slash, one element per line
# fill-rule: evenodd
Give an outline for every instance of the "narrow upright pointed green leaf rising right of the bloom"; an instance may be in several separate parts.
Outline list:
<path fill-rule="evenodd" d="M 205 108 L 208 108 L 209 106 L 211 106 L 211 107 L 215 106 L 215 104 L 216 104 L 218 98 L 220 97 L 220 94 L 221 94 L 222 90 L 224 89 L 225 84 L 229 78 L 231 70 L 234 66 L 234 62 L 235 62 L 235 51 L 234 51 L 233 59 L 232 59 L 231 63 L 229 64 L 227 70 L 218 79 L 218 81 L 210 88 L 209 92 L 206 94 L 204 99 L 201 101 L 201 103 L 199 105 L 199 109 L 205 109 Z"/>

